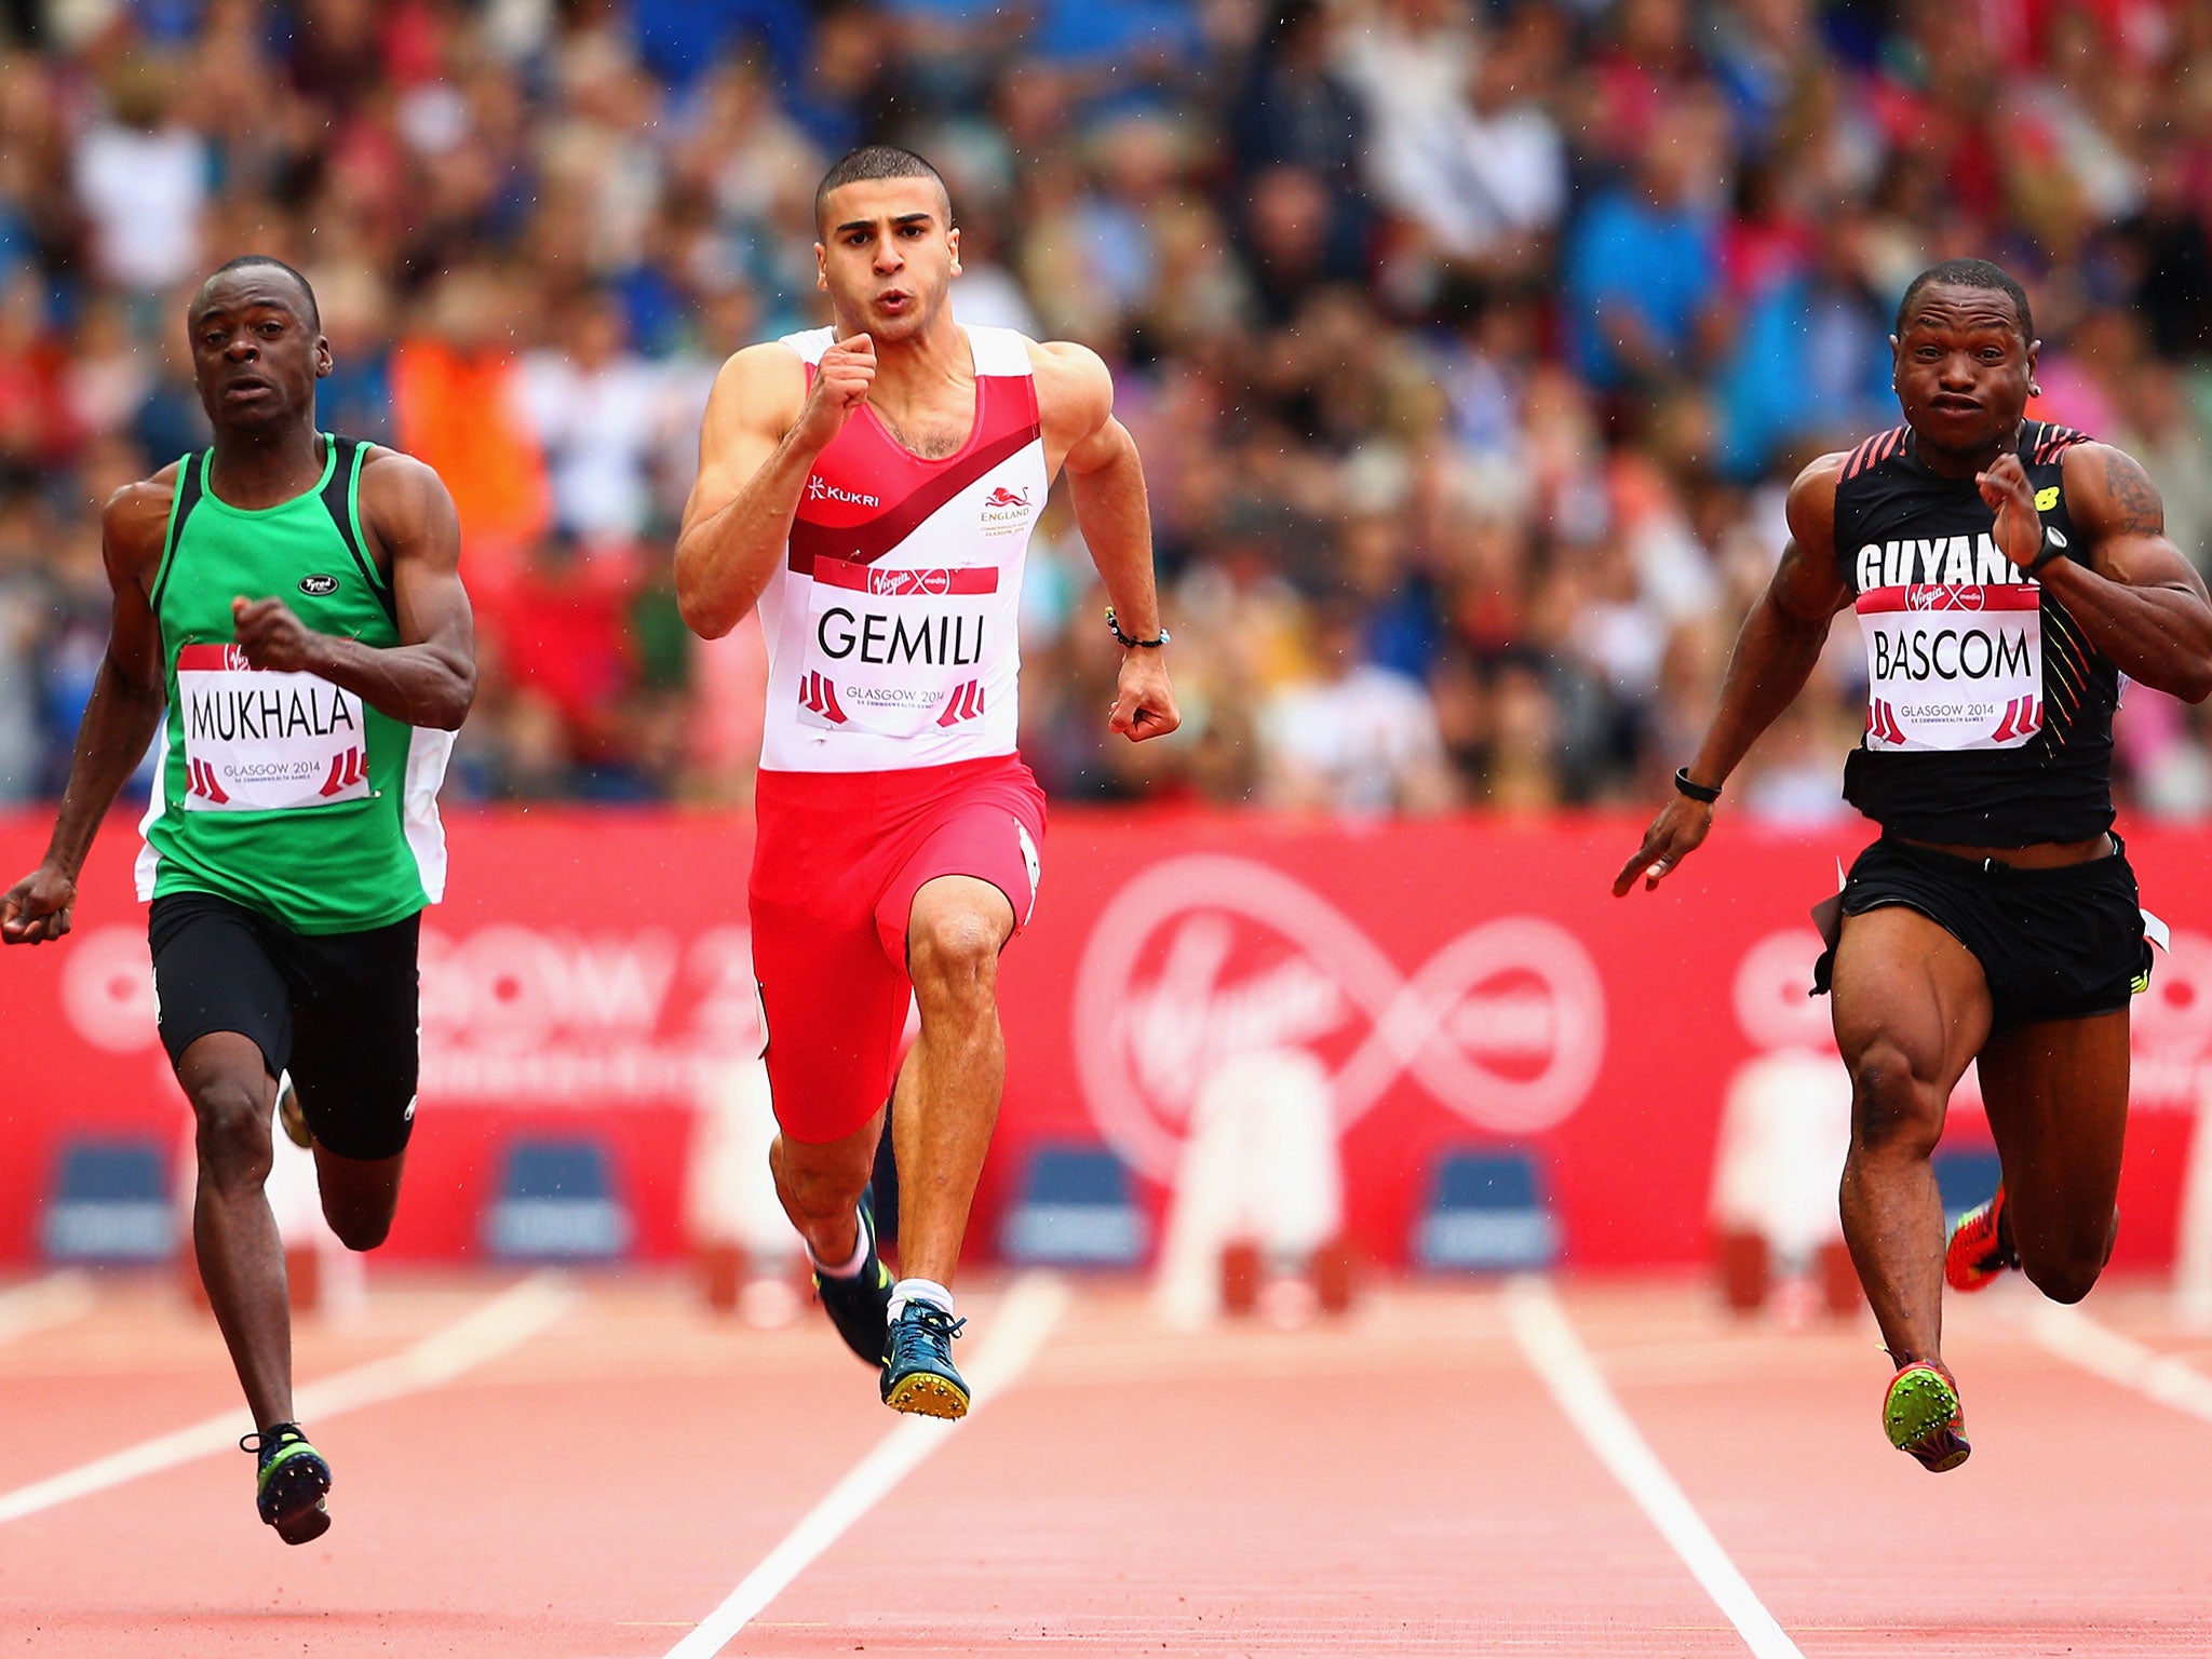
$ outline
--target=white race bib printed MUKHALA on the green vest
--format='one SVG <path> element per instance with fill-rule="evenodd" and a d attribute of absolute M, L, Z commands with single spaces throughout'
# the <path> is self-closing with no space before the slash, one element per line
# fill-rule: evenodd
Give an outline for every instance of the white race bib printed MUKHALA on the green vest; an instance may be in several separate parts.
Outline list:
<path fill-rule="evenodd" d="M 288 812 L 369 794 L 361 697 L 316 675 L 250 668 L 237 646 L 181 646 L 188 812 Z"/>

